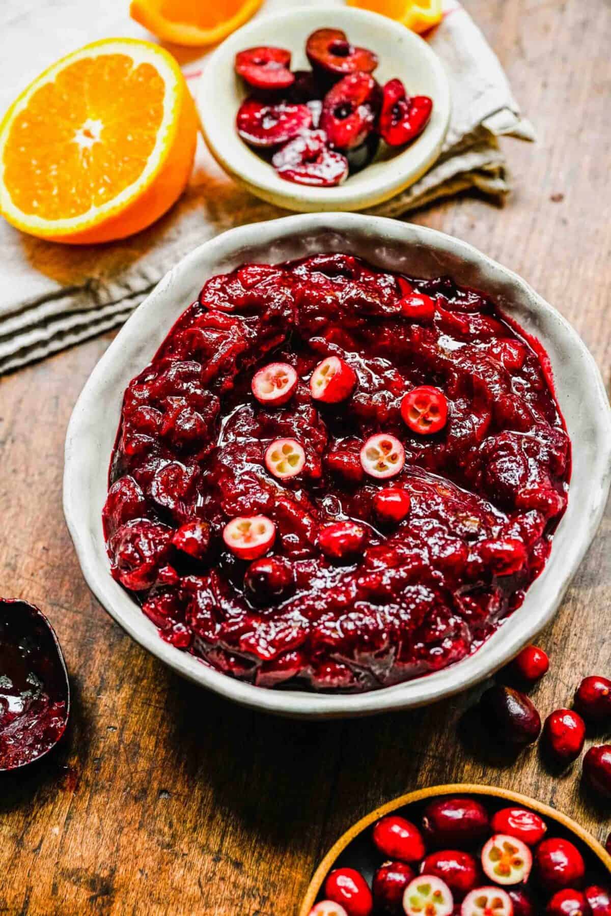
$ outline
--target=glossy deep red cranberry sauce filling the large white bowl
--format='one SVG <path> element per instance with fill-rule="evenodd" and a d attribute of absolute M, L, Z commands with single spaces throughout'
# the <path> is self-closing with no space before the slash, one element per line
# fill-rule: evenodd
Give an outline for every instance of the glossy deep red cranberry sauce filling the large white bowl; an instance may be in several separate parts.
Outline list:
<path fill-rule="evenodd" d="M 310 385 L 329 356 L 341 402 Z M 253 396 L 269 364 L 283 385 L 296 370 L 288 401 Z M 402 415 L 415 387 L 447 416 Z M 265 455 L 285 437 L 305 463 L 278 479 Z M 391 481 L 364 463 L 371 437 L 400 458 Z M 569 474 L 540 357 L 489 300 L 318 255 L 206 282 L 125 391 L 104 532 L 173 645 L 267 687 L 368 690 L 464 658 L 522 603 Z M 248 574 L 223 539 L 236 517 L 271 519 L 278 562 Z M 322 529 L 347 521 L 325 552 Z"/>

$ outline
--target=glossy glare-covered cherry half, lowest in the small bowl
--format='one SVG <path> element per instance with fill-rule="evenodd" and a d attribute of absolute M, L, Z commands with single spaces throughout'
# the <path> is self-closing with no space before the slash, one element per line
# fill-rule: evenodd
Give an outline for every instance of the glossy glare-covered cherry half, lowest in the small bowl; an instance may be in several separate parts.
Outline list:
<path fill-rule="evenodd" d="M 327 146 L 323 130 L 305 131 L 278 150 L 271 163 L 280 178 L 311 187 L 332 188 L 348 177 L 348 160 Z"/>

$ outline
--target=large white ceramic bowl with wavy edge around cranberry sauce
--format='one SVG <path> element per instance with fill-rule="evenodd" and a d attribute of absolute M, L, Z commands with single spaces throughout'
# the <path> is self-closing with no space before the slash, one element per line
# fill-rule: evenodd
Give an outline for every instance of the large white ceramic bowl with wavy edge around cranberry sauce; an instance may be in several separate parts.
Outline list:
<path fill-rule="evenodd" d="M 102 507 L 123 393 L 150 361 L 204 281 L 247 261 L 277 263 L 341 251 L 416 277 L 448 273 L 484 290 L 551 360 L 557 396 L 573 442 L 569 504 L 543 573 L 524 604 L 474 655 L 435 674 L 352 695 L 270 690 L 213 671 L 158 636 L 156 627 L 110 575 Z M 611 410 L 592 356 L 562 315 L 524 280 L 471 245 L 432 229 L 354 213 L 289 216 L 232 229 L 196 248 L 161 280 L 125 324 L 82 390 L 66 440 L 64 511 L 82 572 L 106 610 L 145 649 L 175 671 L 238 703 L 302 717 L 380 713 L 431 703 L 482 681 L 551 620 L 595 534 L 611 468 Z"/>

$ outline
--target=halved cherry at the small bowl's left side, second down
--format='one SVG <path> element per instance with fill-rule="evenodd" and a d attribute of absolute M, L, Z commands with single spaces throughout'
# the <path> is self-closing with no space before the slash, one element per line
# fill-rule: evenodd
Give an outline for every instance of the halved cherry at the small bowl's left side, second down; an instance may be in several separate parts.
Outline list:
<path fill-rule="evenodd" d="M 239 107 L 235 125 L 238 134 L 251 147 L 271 149 L 308 130 L 311 111 L 307 105 L 265 104 L 248 98 Z"/>

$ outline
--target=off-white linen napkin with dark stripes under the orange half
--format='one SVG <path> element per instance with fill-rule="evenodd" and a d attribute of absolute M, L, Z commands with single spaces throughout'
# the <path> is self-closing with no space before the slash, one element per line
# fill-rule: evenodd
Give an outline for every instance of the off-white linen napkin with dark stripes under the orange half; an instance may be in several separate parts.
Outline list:
<path fill-rule="evenodd" d="M 304 5 L 320 2 L 305 0 Z M 330 3 L 342 0 L 325 0 L 325 7 Z M 258 15 L 290 4 L 267 0 Z M 81 0 L 4 0 L 0 109 L 61 54 L 104 36 L 142 37 L 126 7 L 125 0 L 106 0 L 95 5 L 92 16 L 93 7 Z M 401 216 L 469 188 L 500 201 L 510 178 L 497 136 L 534 139 L 495 54 L 462 5 L 446 0 L 442 23 L 426 38 L 445 65 L 452 90 L 452 121 L 442 155 L 411 188 L 369 213 Z M 189 51 L 175 50 L 194 87 L 208 55 L 188 60 Z M 282 215 L 286 211 L 227 178 L 200 139 L 180 202 L 132 238 L 57 245 L 21 234 L 0 219 L 0 374 L 115 328 L 193 247 L 232 226 Z"/>

